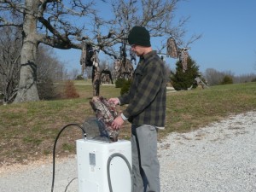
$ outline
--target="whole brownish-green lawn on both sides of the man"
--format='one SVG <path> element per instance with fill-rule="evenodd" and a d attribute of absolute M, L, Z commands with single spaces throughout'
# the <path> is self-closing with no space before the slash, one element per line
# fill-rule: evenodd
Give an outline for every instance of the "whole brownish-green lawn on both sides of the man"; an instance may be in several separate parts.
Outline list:
<path fill-rule="evenodd" d="M 90 108 L 91 84 L 75 86 L 79 98 L 57 101 L 26 102 L 0 106 L 0 166 L 28 163 L 52 155 L 55 137 L 64 125 L 83 124 L 95 117 Z M 113 85 L 102 85 L 101 96 L 119 96 Z M 119 107 L 119 111 L 125 107 Z M 227 84 L 210 89 L 167 93 L 166 130 L 159 131 L 161 140 L 172 131 L 193 131 L 230 114 L 256 110 L 256 83 Z M 119 138 L 130 137 L 127 122 Z M 66 129 L 58 141 L 57 156 L 75 153 L 75 140 L 81 138 L 76 127 Z"/>

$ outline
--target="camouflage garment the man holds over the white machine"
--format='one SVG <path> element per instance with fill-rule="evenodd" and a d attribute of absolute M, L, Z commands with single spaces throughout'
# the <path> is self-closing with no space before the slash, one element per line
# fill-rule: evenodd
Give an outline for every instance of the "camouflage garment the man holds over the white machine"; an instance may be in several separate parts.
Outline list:
<path fill-rule="evenodd" d="M 108 137 L 112 142 L 117 142 L 119 130 L 113 130 L 111 124 L 118 116 L 114 104 L 108 103 L 102 96 L 93 96 L 90 105 L 96 113 L 101 137 Z"/>

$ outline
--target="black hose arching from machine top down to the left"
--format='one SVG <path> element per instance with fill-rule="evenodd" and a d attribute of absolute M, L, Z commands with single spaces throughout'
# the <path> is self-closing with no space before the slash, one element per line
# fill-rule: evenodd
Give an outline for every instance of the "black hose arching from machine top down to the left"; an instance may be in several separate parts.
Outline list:
<path fill-rule="evenodd" d="M 51 192 L 53 192 L 54 190 L 54 185 L 55 185 L 55 147 L 56 147 L 56 144 L 57 144 L 57 141 L 59 139 L 59 137 L 61 136 L 61 132 L 64 131 L 68 126 L 77 126 L 79 127 L 82 131 L 83 131 L 83 138 L 86 137 L 86 132 L 84 131 L 84 128 L 79 125 L 79 124 L 68 124 L 66 126 L 64 126 L 61 131 L 59 132 L 58 136 L 55 138 L 55 145 L 54 145 L 54 148 L 53 148 L 53 167 L 52 167 L 52 185 L 51 185 Z"/>

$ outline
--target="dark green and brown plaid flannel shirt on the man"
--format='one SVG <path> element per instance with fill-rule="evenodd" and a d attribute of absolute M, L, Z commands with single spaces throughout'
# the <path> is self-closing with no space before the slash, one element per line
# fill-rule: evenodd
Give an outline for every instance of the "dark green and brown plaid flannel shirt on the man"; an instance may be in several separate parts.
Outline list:
<path fill-rule="evenodd" d="M 130 91 L 119 101 L 129 104 L 123 114 L 132 124 L 165 126 L 166 69 L 156 51 L 140 58 Z"/>

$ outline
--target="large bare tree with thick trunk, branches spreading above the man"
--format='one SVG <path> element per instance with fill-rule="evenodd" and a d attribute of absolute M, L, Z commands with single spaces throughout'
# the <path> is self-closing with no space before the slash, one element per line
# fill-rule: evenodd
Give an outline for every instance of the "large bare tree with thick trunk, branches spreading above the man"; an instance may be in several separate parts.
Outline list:
<path fill-rule="evenodd" d="M 0 0 L 0 27 L 16 26 L 22 31 L 20 82 L 15 102 L 38 101 L 38 44 L 58 49 L 82 49 L 91 44 L 95 49 L 118 57 L 114 45 L 124 41 L 132 26 L 146 26 L 152 37 L 172 37 L 182 44 L 183 26 L 187 19 L 173 26 L 177 3 L 182 0 L 113 0 L 113 20 L 97 15 L 95 1 L 70 0 Z M 105 2 L 105 1 L 103 1 Z M 9 15 L 22 20 L 10 20 Z M 74 20 L 89 18 L 90 25 Z M 164 46 L 163 46 L 164 47 Z"/>

